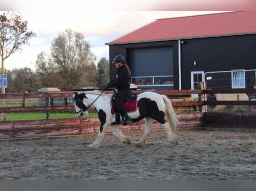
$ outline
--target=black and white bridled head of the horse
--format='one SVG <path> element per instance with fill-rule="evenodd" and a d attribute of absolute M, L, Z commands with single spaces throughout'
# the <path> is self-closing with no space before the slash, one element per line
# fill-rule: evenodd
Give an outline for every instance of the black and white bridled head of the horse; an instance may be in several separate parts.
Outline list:
<path fill-rule="evenodd" d="M 88 116 L 88 103 L 85 101 L 87 99 L 85 93 L 78 94 L 77 92 L 73 96 L 75 102 L 75 109 L 78 117 Z"/>

